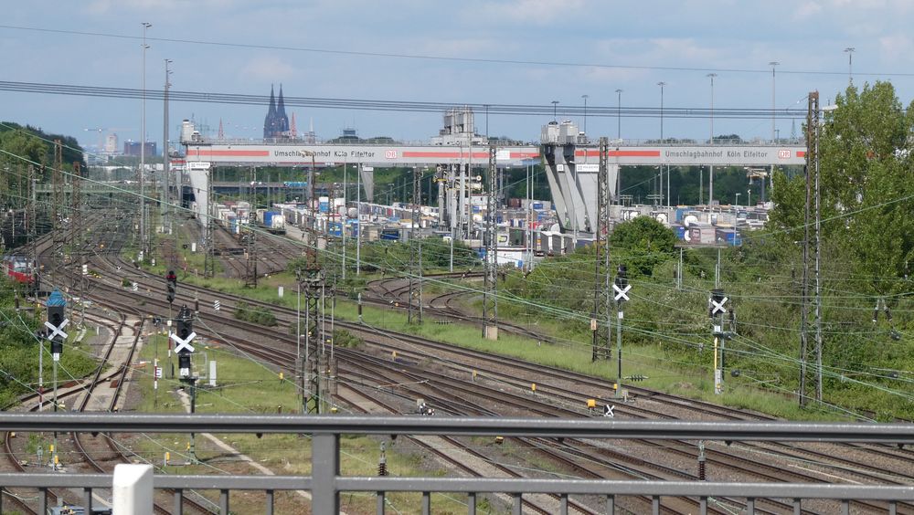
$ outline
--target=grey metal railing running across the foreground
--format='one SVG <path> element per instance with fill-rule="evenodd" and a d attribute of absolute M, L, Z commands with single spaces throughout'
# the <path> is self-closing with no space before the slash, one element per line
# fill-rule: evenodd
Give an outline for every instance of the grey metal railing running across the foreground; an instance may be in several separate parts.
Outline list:
<path fill-rule="evenodd" d="M 5 413 L 0 430 L 75 431 L 111 433 L 254 433 L 306 434 L 312 436 L 311 476 L 186 476 L 157 475 L 154 488 L 175 489 L 175 513 L 181 512 L 187 489 L 220 492 L 219 507 L 228 513 L 231 490 L 266 492 L 264 512 L 272 513 L 277 490 L 308 490 L 313 513 L 338 513 L 342 492 L 377 492 L 377 512 L 384 512 L 388 492 L 422 494 L 422 510 L 431 510 L 430 494 L 462 493 L 468 512 L 475 513 L 479 494 L 506 494 L 513 499 L 513 512 L 521 513 L 525 494 L 558 496 L 561 513 L 568 512 L 569 496 L 596 495 L 605 499 L 607 513 L 614 512 L 620 496 L 646 496 L 658 513 L 664 497 L 698 499 L 699 512 L 707 512 L 708 499 L 745 498 L 753 513 L 756 499 L 792 499 L 795 513 L 802 500 L 834 499 L 842 511 L 853 500 L 887 502 L 895 513 L 898 502 L 914 501 L 914 485 L 859 485 L 806 483 L 720 483 L 704 481 L 619 481 L 601 479 L 540 478 L 389 478 L 340 475 L 342 435 L 434 435 L 515 436 L 576 438 L 649 438 L 717 441 L 867 442 L 914 444 L 911 424 L 849 424 L 788 422 L 681 422 L 613 421 L 607 419 L 457 418 L 420 416 L 302 416 L 302 415 L 111 415 L 111 414 L 17 414 Z M 39 489 L 41 512 L 47 507 L 50 488 L 83 489 L 87 501 L 92 489 L 110 489 L 112 476 L 105 474 L 0 474 L 0 487 Z"/>

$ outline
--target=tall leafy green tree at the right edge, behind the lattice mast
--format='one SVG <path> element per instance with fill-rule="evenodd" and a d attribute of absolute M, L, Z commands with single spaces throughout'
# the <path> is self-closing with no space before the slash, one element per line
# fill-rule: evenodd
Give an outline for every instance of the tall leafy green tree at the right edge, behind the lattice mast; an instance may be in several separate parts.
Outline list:
<path fill-rule="evenodd" d="M 914 257 L 911 127 L 888 82 L 851 86 L 825 112 L 819 142 L 822 237 L 845 247 L 854 271 L 876 295 L 909 289 L 899 281 Z M 775 177 L 775 226 L 802 240 L 805 178 Z"/>

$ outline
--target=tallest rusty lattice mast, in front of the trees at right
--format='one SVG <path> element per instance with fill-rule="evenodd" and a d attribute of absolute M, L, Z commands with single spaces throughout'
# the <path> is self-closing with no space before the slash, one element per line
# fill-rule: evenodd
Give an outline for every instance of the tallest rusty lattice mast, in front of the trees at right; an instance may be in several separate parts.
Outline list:
<path fill-rule="evenodd" d="M 801 329 L 800 329 L 800 405 L 805 406 L 810 397 L 822 402 L 822 288 L 820 278 L 819 229 L 821 214 L 819 208 L 819 136 L 822 128 L 819 117 L 819 92 L 809 94 L 806 114 L 806 208 L 803 225 L 803 269 L 801 287 Z M 810 234 L 810 216 L 815 218 L 813 234 Z M 812 254 L 812 256 L 811 256 Z M 812 263 L 810 261 L 813 261 Z M 810 268 L 813 268 L 815 287 L 813 298 L 809 294 Z M 814 342 L 809 342 L 810 311 L 815 324 Z M 810 371 L 810 363 L 815 363 Z"/>

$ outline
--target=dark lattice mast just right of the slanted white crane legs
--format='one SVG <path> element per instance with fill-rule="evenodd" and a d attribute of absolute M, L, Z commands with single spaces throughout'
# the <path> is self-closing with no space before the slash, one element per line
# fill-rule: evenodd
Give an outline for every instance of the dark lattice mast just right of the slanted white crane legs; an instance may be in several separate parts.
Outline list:
<path fill-rule="evenodd" d="M 593 235 L 593 317 L 590 331 L 593 333 L 590 361 L 610 359 L 610 187 L 607 154 L 609 142 L 600 138 L 600 170 L 597 176 L 597 228 Z M 529 212 L 529 209 L 527 209 Z M 602 269 L 600 269 L 602 268 Z M 604 324 L 605 322 L 605 324 Z"/>

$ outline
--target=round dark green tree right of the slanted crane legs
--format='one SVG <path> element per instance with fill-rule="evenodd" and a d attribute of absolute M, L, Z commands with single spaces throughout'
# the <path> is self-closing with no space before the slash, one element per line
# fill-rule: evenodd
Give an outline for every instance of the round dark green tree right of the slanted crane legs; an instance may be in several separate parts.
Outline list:
<path fill-rule="evenodd" d="M 630 274 L 650 276 L 654 267 L 673 257 L 677 241 L 669 227 L 651 216 L 638 216 L 613 229 L 610 252 L 616 253 Z"/>

